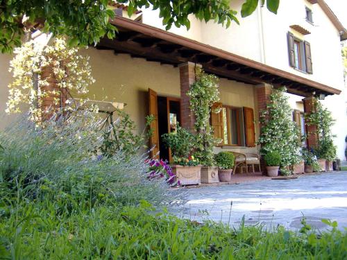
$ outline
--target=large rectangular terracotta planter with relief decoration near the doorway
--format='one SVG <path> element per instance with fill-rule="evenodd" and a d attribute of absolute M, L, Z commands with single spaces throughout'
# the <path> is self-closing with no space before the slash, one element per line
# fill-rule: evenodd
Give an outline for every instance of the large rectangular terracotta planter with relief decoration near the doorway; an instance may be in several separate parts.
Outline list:
<path fill-rule="evenodd" d="M 201 166 L 172 165 L 171 168 L 180 185 L 201 184 Z"/>

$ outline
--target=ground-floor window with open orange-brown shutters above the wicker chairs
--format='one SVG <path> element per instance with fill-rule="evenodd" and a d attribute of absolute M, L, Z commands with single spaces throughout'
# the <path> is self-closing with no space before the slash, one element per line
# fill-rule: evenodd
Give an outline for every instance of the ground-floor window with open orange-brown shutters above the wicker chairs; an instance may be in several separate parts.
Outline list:
<path fill-rule="evenodd" d="M 221 139 L 221 146 L 255 146 L 252 108 L 231 107 L 216 103 L 212 107 L 211 123 L 214 137 Z"/>

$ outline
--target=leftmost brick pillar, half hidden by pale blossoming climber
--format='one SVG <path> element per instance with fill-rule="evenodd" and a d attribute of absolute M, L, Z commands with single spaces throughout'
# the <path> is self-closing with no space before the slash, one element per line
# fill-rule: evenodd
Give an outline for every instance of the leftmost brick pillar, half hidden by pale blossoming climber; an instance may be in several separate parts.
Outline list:
<path fill-rule="evenodd" d="M 48 120 L 61 107 L 65 107 L 67 101 L 67 91 L 57 85 L 57 80 L 53 75 L 52 68 L 47 66 L 42 69 L 41 80 L 46 80 L 47 86 L 40 87 L 42 98 L 40 101 L 42 110 L 42 120 Z"/>

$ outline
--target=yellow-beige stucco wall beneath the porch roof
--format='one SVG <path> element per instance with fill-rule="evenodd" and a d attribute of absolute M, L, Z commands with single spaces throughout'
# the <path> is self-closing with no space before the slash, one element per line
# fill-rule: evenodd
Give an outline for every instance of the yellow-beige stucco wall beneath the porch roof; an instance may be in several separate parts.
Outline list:
<path fill-rule="evenodd" d="M 130 55 L 114 55 L 112 51 L 98 51 L 94 48 L 81 53 L 90 55 L 92 73 L 96 80 L 90 88 L 88 97 L 126 103 L 124 110 L 139 126 L 139 131 L 142 130 L 144 117 L 148 114 L 149 88 L 157 92 L 158 96 L 180 96 L 178 68 L 131 58 Z M 219 85 L 223 104 L 251 107 L 257 116 L 253 86 L 226 79 L 221 79 Z M 235 150 L 235 148 L 223 148 L 223 150 Z M 255 148 L 246 150 L 254 151 Z"/>

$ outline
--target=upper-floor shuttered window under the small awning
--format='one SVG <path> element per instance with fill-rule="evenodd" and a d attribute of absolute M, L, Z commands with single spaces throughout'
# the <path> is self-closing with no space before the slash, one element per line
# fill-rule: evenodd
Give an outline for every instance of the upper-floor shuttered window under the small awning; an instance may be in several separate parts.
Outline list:
<path fill-rule="evenodd" d="M 289 64 L 291 67 L 312 73 L 311 45 L 288 33 Z"/>

